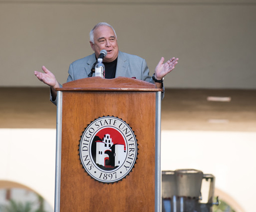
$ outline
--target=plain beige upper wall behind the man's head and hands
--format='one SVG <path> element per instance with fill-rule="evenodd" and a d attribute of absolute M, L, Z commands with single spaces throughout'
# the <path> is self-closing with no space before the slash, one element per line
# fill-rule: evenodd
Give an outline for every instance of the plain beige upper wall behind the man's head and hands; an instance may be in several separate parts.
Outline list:
<path fill-rule="evenodd" d="M 64 83 L 102 21 L 151 74 L 161 56 L 180 58 L 166 87 L 256 89 L 256 0 L 0 0 L 0 86 L 43 86 L 43 64 Z"/>

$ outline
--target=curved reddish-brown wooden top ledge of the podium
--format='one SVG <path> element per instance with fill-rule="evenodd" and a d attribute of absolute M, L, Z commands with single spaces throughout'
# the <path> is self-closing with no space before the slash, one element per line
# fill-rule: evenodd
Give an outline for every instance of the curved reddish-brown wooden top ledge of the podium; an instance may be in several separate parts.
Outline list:
<path fill-rule="evenodd" d="M 156 88 L 155 84 L 127 77 L 117 77 L 114 79 L 103 79 L 101 77 L 83 78 L 64 83 L 60 91 L 162 91 Z"/>

